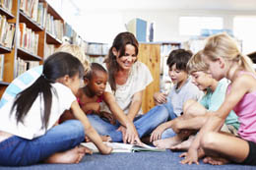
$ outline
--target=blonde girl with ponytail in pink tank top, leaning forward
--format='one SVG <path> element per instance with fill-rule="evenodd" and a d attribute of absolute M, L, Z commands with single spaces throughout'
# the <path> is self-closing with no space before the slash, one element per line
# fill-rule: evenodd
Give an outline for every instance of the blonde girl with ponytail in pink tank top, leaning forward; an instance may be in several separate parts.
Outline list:
<path fill-rule="evenodd" d="M 188 152 L 181 154 L 185 156 L 181 163 L 198 164 L 200 148 L 207 155 L 205 163 L 256 165 L 256 75 L 252 62 L 225 33 L 209 37 L 202 58 L 214 79 L 226 78 L 231 83 L 222 106 L 204 124 Z M 232 109 L 240 122 L 239 138 L 219 132 Z"/>

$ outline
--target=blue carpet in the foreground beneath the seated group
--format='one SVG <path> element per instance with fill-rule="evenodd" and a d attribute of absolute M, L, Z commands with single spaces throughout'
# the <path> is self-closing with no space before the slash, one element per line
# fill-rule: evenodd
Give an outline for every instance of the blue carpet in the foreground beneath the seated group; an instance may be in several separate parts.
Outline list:
<path fill-rule="evenodd" d="M 101 155 L 95 153 L 86 155 L 79 164 L 36 164 L 25 167 L 4 167 L 2 170 L 249 170 L 256 169 L 255 166 L 245 166 L 237 164 L 209 165 L 200 161 L 199 165 L 182 165 L 178 157 L 180 152 L 133 152 L 133 153 L 111 153 L 110 155 Z"/>

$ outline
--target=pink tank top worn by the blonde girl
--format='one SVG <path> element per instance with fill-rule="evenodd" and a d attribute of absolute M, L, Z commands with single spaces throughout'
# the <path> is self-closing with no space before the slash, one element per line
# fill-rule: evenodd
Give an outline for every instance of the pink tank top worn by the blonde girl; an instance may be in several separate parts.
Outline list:
<path fill-rule="evenodd" d="M 256 76 L 250 72 L 240 72 L 239 74 L 251 75 L 256 79 Z M 230 88 L 231 85 L 228 85 L 227 92 L 230 91 Z M 240 123 L 238 135 L 246 141 L 256 142 L 256 91 L 244 94 L 233 111 L 238 116 Z"/>

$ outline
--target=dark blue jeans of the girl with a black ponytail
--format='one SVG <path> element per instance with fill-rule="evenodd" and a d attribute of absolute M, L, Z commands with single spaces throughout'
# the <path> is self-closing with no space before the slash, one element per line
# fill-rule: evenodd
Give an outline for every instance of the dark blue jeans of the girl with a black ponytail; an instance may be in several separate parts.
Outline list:
<path fill-rule="evenodd" d="M 13 136 L 0 142 L 0 165 L 32 165 L 45 160 L 53 153 L 74 148 L 84 140 L 84 126 L 78 120 L 66 121 L 32 140 Z"/>

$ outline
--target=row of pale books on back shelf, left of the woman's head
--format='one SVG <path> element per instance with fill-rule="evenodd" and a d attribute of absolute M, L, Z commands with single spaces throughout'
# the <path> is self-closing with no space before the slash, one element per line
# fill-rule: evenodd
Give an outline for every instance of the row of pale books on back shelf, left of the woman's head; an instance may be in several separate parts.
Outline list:
<path fill-rule="evenodd" d="M 108 45 L 106 43 L 89 42 L 87 53 L 92 55 L 106 55 L 108 52 Z"/>

